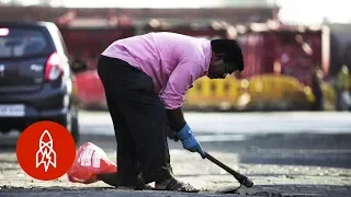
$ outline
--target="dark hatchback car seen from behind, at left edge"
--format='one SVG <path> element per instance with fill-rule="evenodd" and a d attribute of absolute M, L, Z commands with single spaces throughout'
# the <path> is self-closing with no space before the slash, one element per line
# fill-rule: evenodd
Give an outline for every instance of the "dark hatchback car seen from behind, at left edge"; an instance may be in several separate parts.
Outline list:
<path fill-rule="evenodd" d="M 83 67 L 69 60 L 54 23 L 0 22 L 1 132 L 22 131 L 37 120 L 53 120 L 78 141 L 73 73 Z"/>

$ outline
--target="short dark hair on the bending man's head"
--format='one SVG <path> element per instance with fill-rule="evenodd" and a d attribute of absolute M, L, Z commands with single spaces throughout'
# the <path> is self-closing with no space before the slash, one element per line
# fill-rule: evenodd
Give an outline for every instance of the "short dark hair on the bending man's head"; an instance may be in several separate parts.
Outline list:
<path fill-rule="evenodd" d="M 244 70 L 241 48 L 235 39 L 213 39 L 212 50 L 216 54 L 224 54 L 224 61 L 234 63 L 239 71 Z"/>

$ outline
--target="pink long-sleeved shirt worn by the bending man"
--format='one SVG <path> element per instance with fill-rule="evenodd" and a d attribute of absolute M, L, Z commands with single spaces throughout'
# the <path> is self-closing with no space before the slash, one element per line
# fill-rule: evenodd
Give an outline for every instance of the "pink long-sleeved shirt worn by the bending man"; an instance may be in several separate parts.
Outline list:
<path fill-rule="evenodd" d="M 165 107 L 174 109 L 192 83 L 208 73 L 211 42 L 174 33 L 148 33 L 111 44 L 103 56 L 118 58 L 152 78 Z"/>

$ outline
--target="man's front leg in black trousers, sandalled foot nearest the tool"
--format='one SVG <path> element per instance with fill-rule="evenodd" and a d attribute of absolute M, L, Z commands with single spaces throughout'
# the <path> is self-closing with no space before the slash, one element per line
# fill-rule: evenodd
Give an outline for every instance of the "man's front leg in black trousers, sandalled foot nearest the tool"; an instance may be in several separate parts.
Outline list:
<path fill-rule="evenodd" d="M 197 192 L 190 185 L 178 182 L 172 175 L 166 137 L 166 108 L 154 93 L 152 79 L 125 61 L 111 61 L 116 65 L 107 71 L 112 73 L 107 84 L 112 84 L 113 92 L 117 91 L 113 93 L 117 97 L 114 101 L 135 140 L 136 158 L 141 172 L 138 181 L 143 182 L 137 185 L 156 182 L 159 189 Z"/>

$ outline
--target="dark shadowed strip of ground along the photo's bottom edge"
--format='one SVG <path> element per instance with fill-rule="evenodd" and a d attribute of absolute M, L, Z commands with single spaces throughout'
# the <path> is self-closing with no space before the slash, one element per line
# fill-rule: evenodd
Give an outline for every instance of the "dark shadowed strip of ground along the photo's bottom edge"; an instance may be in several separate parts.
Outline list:
<path fill-rule="evenodd" d="M 333 186 L 333 185 L 260 185 L 252 188 L 240 188 L 235 194 L 220 195 L 215 192 L 199 194 L 171 193 L 171 192 L 155 192 L 155 190 L 121 190 L 114 188 L 83 188 L 83 187 L 7 187 L 1 188 L 1 196 L 30 196 L 30 197 L 46 197 L 46 196 L 67 196 L 67 197 L 210 197 L 210 196 L 271 196 L 271 197 L 348 197 L 350 196 L 351 186 Z"/>

